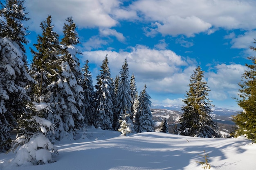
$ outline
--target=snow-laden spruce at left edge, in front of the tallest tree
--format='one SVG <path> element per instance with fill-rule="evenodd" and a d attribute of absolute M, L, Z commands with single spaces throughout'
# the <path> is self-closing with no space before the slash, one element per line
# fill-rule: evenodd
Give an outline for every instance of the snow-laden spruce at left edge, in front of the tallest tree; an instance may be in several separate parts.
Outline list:
<path fill-rule="evenodd" d="M 0 151 L 9 148 L 10 131 L 30 101 L 25 87 L 34 80 L 22 61 L 22 50 L 9 38 L 0 39 Z"/>

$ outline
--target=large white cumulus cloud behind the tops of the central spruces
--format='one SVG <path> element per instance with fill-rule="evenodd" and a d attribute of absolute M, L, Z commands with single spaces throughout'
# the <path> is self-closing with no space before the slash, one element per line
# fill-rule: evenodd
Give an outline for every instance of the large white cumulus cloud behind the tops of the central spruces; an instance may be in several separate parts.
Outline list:
<path fill-rule="evenodd" d="M 141 45 L 132 47 L 130 52 L 84 51 L 83 61 L 88 59 L 100 66 L 106 54 L 113 77 L 119 74 L 121 65 L 127 59 L 130 73 L 134 72 L 136 76 L 137 85 L 146 84 L 148 89 L 155 92 L 184 92 L 189 76 L 196 67 L 189 65 L 189 58 L 183 58 L 171 50 L 155 50 Z"/>

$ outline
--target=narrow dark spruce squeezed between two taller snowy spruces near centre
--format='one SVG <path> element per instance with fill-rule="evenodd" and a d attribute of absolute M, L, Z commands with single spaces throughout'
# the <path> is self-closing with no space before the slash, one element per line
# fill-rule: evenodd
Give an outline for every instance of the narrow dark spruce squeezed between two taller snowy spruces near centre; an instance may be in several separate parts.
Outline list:
<path fill-rule="evenodd" d="M 118 94 L 118 86 L 119 86 L 119 80 L 120 80 L 120 76 L 117 75 L 115 80 L 114 80 L 114 96 L 113 96 L 113 129 L 115 131 L 118 131 L 119 128 L 119 109 L 117 107 L 117 94 Z"/>

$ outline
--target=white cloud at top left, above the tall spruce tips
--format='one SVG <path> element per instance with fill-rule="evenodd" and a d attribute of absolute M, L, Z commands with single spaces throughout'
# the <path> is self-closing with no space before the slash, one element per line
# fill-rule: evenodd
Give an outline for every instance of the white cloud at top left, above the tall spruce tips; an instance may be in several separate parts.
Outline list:
<path fill-rule="evenodd" d="M 119 9 L 119 0 L 26 0 L 25 7 L 29 12 L 29 29 L 40 32 L 40 22 L 52 15 L 57 31 L 62 31 L 67 17 L 73 17 L 79 28 L 112 27 L 118 21 L 111 13 Z"/>

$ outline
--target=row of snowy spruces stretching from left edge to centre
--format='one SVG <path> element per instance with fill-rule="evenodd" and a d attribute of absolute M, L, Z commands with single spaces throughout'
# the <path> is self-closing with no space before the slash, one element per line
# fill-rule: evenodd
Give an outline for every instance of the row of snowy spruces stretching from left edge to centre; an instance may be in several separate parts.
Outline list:
<path fill-rule="evenodd" d="M 123 134 L 153 131 L 146 85 L 138 94 L 135 75 L 130 77 L 126 59 L 113 80 L 106 54 L 93 86 L 89 61 L 81 68 L 77 58 L 81 52 L 76 48 L 79 37 L 72 17 L 64 23 L 62 39 L 53 30 L 51 15 L 40 23 L 42 33 L 34 44 L 36 50 L 30 48 L 33 60 L 29 68 L 23 45 L 27 44 L 28 28 L 22 25 L 29 18 L 25 17 L 23 3 L 7 0 L 1 4 L 1 16 L 5 19 L 0 23 L 2 151 L 10 148 L 13 129 L 18 130 L 14 142 L 19 144 L 41 131 L 43 124 L 35 122 L 38 117 L 54 124 L 54 131 L 45 133 L 51 142 L 75 139 L 76 129 L 85 126 Z"/>

